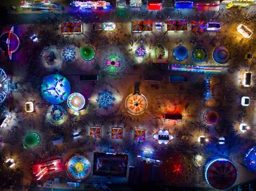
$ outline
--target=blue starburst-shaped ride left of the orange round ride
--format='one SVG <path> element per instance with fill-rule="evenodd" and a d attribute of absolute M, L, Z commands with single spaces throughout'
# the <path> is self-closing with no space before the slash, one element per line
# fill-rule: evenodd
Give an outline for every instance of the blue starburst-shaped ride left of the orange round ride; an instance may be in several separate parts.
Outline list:
<path fill-rule="evenodd" d="M 109 107 L 113 106 L 116 98 L 113 96 L 113 92 L 109 90 L 103 90 L 98 93 L 98 98 L 96 99 L 99 108 L 107 110 Z"/>

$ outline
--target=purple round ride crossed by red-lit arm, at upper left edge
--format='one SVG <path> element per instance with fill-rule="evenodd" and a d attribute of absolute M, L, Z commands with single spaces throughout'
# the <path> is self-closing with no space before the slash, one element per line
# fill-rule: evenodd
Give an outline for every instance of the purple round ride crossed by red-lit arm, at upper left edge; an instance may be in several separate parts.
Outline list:
<path fill-rule="evenodd" d="M 17 52 L 19 48 L 19 37 L 14 32 L 15 27 L 12 26 L 8 32 L 3 32 L 0 36 L 0 49 L 12 59 L 12 54 Z"/>

